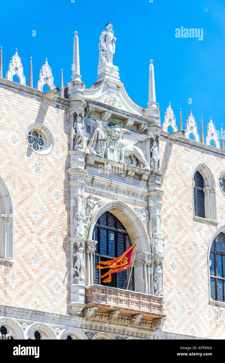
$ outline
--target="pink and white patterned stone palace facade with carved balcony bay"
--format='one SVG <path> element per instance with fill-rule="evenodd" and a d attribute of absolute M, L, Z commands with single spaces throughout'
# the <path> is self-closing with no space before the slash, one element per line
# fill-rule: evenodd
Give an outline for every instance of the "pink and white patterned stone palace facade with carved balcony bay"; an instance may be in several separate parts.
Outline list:
<path fill-rule="evenodd" d="M 225 151 L 212 119 L 199 142 L 192 111 L 178 131 L 169 104 L 161 127 L 152 60 L 148 107 L 136 105 L 112 64 L 115 41 L 106 24 L 90 89 L 77 32 L 61 90 L 47 59 L 37 89 L 32 63 L 26 86 L 17 51 L 0 78 L 0 326 L 14 339 L 224 339 L 209 250 L 225 229 Z M 205 218 L 194 215 L 196 171 Z M 93 231 L 108 211 L 137 242 L 134 291 L 94 284 Z"/>

